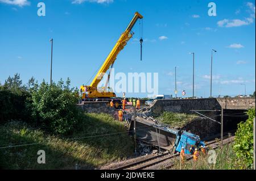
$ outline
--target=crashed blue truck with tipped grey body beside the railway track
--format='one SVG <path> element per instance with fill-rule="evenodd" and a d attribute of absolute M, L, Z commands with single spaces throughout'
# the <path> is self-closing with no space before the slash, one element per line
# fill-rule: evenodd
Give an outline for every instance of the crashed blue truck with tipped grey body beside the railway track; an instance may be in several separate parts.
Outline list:
<path fill-rule="evenodd" d="M 167 125 L 156 124 L 151 120 L 137 117 L 135 121 L 136 139 L 147 144 L 160 147 L 170 153 L 180 152 L 184 148 L 185 154 L 191 154 L 189 149 L 204 145 L 196 134 L 183 130 L 168 128 Z M 134 135 L 134 121 L 131 121 L 129 133 Z"/>

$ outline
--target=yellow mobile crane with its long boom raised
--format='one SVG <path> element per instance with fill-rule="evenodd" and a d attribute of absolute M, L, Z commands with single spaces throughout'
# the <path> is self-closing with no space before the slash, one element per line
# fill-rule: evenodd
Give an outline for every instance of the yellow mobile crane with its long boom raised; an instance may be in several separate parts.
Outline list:
<path fill-rule="evenodd" d="M 98 83 L 102 80 L 104 77 L 106 71 L 110 68 L 113 68 L 113 64 L 115 60 L 117 59 L 118 54 L 121 52 L 121 50 L 125 47 L 127 42 L 133 37 L 134 32 L 131 31 L 133 28 L 134 24 L 137 22 L 138 19 L 142 19 L 143 16 L 139 14 L 139 12 L 135 12 L 135 15 L 133 19 L 131 20 L 129 26 L 126 28 L 125 32 L 122 33 L 122 35 L 119 37 L 119 40 L 115 44 L 114 48 L 112 51 L 109 53 L 109 56 L 106 58 L 104 64 L 101 66 L 100 70 L 98 70 L 98 73 L 94 77 L 92 83 L 90 83 L 90 86 L 84 86 L 82 85 L 80 87 L 80 92 L 82 95 L 82 100 L 96 100 L 96 99 L 101 99 L 101 100 L 114 100 L 114 105 L 117 108 L 119 104 L 121 103 L 121 100 L 118 100 L 116 98 L 115 93 L 112 91 L 110 87 L 108 87 L 108 82 L 110 78 L 110 73 L 108 75 L 108 80 L 106 82 L 105 87 L 100 87 L 97 88 Z M 142 46 L 142 38 L 141 38 L 141 46 Z"/>

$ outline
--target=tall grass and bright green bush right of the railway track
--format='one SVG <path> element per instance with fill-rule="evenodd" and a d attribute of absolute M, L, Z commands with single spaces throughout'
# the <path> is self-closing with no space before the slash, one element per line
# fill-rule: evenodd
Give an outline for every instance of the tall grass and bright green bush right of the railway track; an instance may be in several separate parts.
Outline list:
<path fill-rule="evenodd" d="M 255 108 L 248 110 L 247 115 L 249 119 L 238 124 L 235 141 L 216 150 L 215 164 L 208 162 L 210 155 L 204 156 L 201 154 L 197 161 L 185 161 L 181 169 L 253 169 L 253 119 L 255 117 Z M 175 166 L 172 169 L 180 169 L 179 160 L 175 162 Z"/>

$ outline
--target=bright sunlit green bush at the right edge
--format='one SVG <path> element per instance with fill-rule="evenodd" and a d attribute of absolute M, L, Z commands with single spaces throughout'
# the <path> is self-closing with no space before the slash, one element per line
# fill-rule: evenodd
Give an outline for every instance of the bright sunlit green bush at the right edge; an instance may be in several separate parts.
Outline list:
<path fill-rule="evenodd" d="M 249 119 L 238 124 L 236 132 L 234 151 L 238 157 L 238 165 L 241 169 L 252 169 L 253 167 L 253 120 L 255 108 L 247 111 Z"/>

